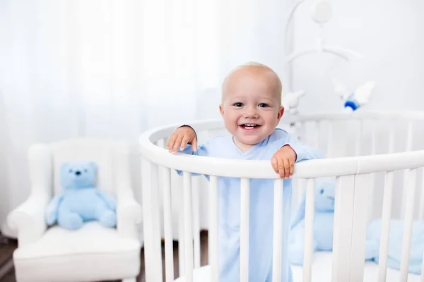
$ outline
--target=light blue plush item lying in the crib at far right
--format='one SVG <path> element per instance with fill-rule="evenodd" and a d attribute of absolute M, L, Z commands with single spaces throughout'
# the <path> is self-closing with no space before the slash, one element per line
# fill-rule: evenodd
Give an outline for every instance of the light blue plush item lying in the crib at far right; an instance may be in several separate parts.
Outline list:
<path fill-rule="evenodd" d="M 365 259 L 379 262 L 379 244 L 381 238 L 382 220 L 375 219 L 367 228 L 367 243 L 365 247 Z M 404 221 L 391 219 L 389 231 L 389 251 L 387 266 L 392 269 L 401 269 L 402 240 L 404 234 Z M 424 253 L 424 222 L 414 221 L 411 237 L 411 254 L 409 257 L 408 271 L 413 274 L 421 274 Z"/>

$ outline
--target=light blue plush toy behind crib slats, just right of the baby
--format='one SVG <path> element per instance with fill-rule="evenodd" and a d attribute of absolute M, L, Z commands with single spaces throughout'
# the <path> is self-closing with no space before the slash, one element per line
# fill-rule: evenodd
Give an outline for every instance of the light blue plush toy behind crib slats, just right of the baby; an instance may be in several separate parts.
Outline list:
<path fill-rule="evenodd" d="M 315 181 L 314 241 L 313 252 L 333 249 L 334 178 Z M 305 245 L 305 195 L 293 218 L 290 232 L 289 257 L 295 265 L 303 265 Z"/>

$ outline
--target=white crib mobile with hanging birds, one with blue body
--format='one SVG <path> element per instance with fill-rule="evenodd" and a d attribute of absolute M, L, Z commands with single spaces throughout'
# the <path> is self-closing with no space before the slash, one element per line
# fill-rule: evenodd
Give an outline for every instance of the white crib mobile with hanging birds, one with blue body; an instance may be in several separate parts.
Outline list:
<path fill-rule="evenodd" d="M 300 4 L 305 0 L 298 1 L 297 4 L 293 7 L 290 15 L 288 16 L 288 22 L 285 25 L 285 42 L 288 42 L 288 27 L 290 26 L 290 22 L 293 19 L 293 15 L 295 11 L 298 9 Z M 311 53 L 329 53 L 334 56 L 338 56 L 345 61 L 355 61 L 358 59 L 363 59 L 364 56 L 362 54 L 358 54 L 355 51 L 350 49 L 346 49 L 338 46 L 329 46 L 325 43 L 324 40 L 324 23 L 328 23 L 331 19 L 332 8 L 327 0 L 321 0 L 317 4 L 312 6 L 311 17 L 314 23 L 318 25 L 318 45 L 315 47 L 301 49 L 298 51 L 293 51 L 288 54 L 285 60 L 286 65 L 290 64 L 295 59 L 298 59 L 300 56 L 305 56 Z M 286 43 L 287 44 L 287 43 Z M 348 87 L 344 85 L 342 82 L 336 80 L 336 78 L 331 78 L 331 81 L 334 85 L 334 92 L 338 95 L 338 97 L 344 102 L 343 110 L 346 111 L 347 114 L 353 113 L 357 111 L 361 107 L 365 106 L 369 99 L 372 90 L 375 87 L 375 81 L 369 80 L 365 82 L 365 84 L 360 85 L 356 90 L 348 90 Z M 305 97 L 305 90 L 293 91 L 292 85 L 287 81 L 285 85 L 288 85 L 288 94 L 282 99 L 282 106 L 284 106 L 285 110 L 290 114 L 298 115 L 298 105 L 300 99 Z M 290 131 L 295 134 L 297 130 L 300 128 L 300 123 L 290 123 Z"/>

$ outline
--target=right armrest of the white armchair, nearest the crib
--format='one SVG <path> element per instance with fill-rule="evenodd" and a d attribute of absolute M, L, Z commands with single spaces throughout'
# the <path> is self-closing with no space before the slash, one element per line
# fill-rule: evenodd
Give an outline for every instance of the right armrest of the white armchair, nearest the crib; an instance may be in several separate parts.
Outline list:
<path fill-rule="evenodd" d="M 137 224 L 141 223 L 143 212 L 131 188 L 119 188 L 117 193 L 117 229 L 125 238 L 139 238 Z"/>

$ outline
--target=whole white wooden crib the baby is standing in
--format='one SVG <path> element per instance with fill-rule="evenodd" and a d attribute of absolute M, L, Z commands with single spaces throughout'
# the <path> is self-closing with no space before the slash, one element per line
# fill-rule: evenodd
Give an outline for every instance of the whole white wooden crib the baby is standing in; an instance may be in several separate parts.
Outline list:
<path fill-rule="evenodd" d="M 416 274 L 408 274 L 411 250 L 411 229 L 414 219 L 423 219 L 424 192 L 420 197 L 416 187 L 418 168 L 424 167 L 424 113 L 358 112 L 354 114 L 316 114 L 283 118 L 302 142 L 322 149 L 327 159 L 304 161 L 295 165 L 293 189 L 297 199 L 306 188 L 306 235 L 303 267 L 293 266 L 295 281 L 424 281 Z M 199 133 L 199 144 L 217 132 L 222 132 L 222 121 L 192 123 Z M 281 179 L 271 168 L 270 161 L 243 161 L 172 155 L 164 149 L 166 138 L 177 125 L 156 128 L 140 137 L 141 173 L 143 186 L 143 231 L 146 262 L 146 281 L 162 281 L 161 234 L 165 234 L 165 281 L 174 281 L 172 254 L 172 202 L 178 203 L 179 282 L 218 281 L 217 177 L 241 178 L 241 238 L 240 281 L 249 281 L 248 238 L 249 178 L 275 179 L 273 281 L 281 281 Z M 203 134 L 203 135 L 202 135 Z M 202 137 L 205 140 L 202 140 Z M 175 184 L 172 174 L 184 171 L 183 196 L 172 195 Z M 192 173 L 207 174 L 204 178 Z M 175 173 L 176 174 L 176 173 Z M 336 177 L 333 252 L 312 254 L 315 178 Z M 205 180 L 206 181 L 206 180 Z M 196 187 L 194 187 L 196 186 Z M 199 187 L 208 190 L 208 266 L 200 267 Z M 193 188 L 194 187 L 194 188 Z M 160 188 L 160 189 L 158 189 Z M 343 189 L 342 189 L 343 188 Z M 160 195 L 163 194 L 163 195 Z M 401 199 L 398 204 L 392 199 Z M 394 204 L 392 204 L 394 202 Z M 203 205 L 203 204 L 202 204 Z M 163 207 L 160 208 L 160 207 Z M 362 207 L 369 207 L 363 209 Z M 382 217 L 382 241 L 379 264 L 365 262 L 367 222 Z M 404 219 L 401 270 L 387 268 L 389 219 Z M 387 280 L 386 280 L 387 279 Z M 423 280 L 421 280 L 423 279 Z"/>

